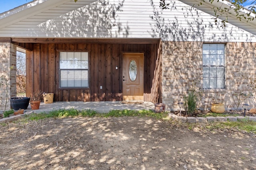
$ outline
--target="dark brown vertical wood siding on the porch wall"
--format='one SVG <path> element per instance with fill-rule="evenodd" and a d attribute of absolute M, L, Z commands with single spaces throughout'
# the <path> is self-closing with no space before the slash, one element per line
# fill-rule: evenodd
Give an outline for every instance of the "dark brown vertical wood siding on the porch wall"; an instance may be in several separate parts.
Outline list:
<path fill-rule="evenodd" d="M 31 47 L 27 43 L 21 45 Z M 157 49 L 158 44 L 34 43 L 33 51 L 26 51 L 26 96 L 42 90 L 54 93 L 56 102 L 122 101 L 122 52 L 139 52 L 144 53 L 144 101 L 155 101 L 160 96 L 158 89 L 151 94 Z M 60 51 L 89 52 L 89 88 L 59 88 Z M 156 83 L 160 82 L 156 80 Z"/>

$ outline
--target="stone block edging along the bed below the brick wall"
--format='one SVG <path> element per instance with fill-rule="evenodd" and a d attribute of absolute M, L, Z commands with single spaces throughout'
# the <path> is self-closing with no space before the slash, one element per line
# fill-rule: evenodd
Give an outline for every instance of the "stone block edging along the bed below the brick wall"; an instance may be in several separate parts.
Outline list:
<path fill-rule="evenodd" d="M 253 116 L 183 117 L 183 116 L 175 115 L 174 113 L 169 113 L 168 116 L 176 121 L 188 122 L 188 123 L 214 122 L 214 121 L 244 121 L 245 119 L 248 121 L 256 121 L 256 117 L 253 117 Z"/>

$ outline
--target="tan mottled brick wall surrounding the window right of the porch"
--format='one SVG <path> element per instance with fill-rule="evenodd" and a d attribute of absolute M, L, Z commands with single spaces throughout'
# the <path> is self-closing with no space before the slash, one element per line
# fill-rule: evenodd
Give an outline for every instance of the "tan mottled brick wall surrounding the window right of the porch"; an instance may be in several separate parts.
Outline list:
<path fill-rule="evenodd" d="M 178 102 L 183 102 L 188 87 L 193 80 L 198 80 L 202 87 L 202 45 L 203 42 L 163 42 L 162 52 L 162 87 L 163 103 L 166 110 L 178 110 Z M 210 109 L 215 92 L 224 99 L 226 109 L 234 109 L 232 92 L 252 92 L 242 75 L 256 75 L 256 43 L 226 43 L 225 54 L 225 89 L 203 90 L 200 109 Z M 256 94 L 254 94 L 256 96 Z M 255 107 L 255 99 L 244 101 Z"/>

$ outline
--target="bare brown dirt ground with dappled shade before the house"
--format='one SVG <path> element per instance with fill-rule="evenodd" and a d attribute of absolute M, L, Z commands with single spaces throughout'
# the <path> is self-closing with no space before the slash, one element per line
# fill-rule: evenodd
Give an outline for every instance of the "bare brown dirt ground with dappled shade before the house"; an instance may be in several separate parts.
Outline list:
<path fill-rule="evenodd" d="M 4 170 L 254 170 L 256 135 L 150 118 L 64 118 L 0 126 Z"/>

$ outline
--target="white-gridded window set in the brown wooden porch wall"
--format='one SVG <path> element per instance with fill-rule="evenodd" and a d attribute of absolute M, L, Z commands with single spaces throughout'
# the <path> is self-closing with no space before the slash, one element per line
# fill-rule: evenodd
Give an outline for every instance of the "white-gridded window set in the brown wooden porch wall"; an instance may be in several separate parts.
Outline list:
<path fill-rule="evenodd" d="M 88 87 L 88 52 L 60 52 L 60 87 Z"/>

